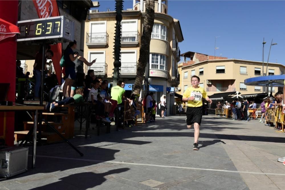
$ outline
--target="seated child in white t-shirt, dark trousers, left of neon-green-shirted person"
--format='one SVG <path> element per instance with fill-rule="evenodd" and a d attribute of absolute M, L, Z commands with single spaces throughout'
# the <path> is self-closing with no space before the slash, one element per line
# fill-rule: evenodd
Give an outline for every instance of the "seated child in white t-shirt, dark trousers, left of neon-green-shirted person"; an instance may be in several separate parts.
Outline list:
<path fill-rule="evenodd" d="M 104 104 L 100 100 L 98 100 L 98 97 L 101 98 L 100 94 L 98 94 L 98 88 L 100 86 L 100 81 L 99 80 L 93 80 L 92 84 L 93 84 L 93 87 L 91 88 L 91 90 L 89 92 L 88 102 L 95 105 L 94 106 L 95 117 L 97 120 L 99 120 L 101 117 L 103 121 L 107 121 L 108 123 L 111 123 L 111 120 L 108 117 L 105 118 L 105 116 L 104 116 L 104 111 L 105 111 Z"/>

